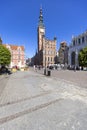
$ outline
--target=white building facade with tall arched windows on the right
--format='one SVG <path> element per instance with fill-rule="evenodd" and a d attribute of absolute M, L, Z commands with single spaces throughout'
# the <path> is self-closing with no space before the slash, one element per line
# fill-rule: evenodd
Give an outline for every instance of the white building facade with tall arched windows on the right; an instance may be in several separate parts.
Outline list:
<path fill-rule="evenodd" d="M 79 52 L 86 46 L 87 46 L 87 31 L 72 38 L 72 43 L 69 46 L 69 53 L 68 53 L 68 62 L 69 62 L 68 64 L 70 66 L 79 66 L 78 62 Z"/>

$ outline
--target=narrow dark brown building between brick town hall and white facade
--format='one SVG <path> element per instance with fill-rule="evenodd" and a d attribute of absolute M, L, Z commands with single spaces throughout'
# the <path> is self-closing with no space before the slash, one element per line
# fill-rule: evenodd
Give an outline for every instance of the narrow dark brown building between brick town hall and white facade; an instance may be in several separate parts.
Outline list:
<path fill-rule="evenodd" d="M 60 43 L 59 48 L 59 63 L 68 64 L 68 46 L 65 41 Z"/>

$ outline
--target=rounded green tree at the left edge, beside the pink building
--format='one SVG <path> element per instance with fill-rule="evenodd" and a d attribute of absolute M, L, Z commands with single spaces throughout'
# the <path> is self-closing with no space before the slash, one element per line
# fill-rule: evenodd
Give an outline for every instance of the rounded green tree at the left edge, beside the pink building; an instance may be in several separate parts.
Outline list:
<path fill-rule="evenodd" d="M 0 65 L 6 66 L 9 65 L 10 62 L 11 62 L 10 51 L 4 45 L 0 45 Z"/>

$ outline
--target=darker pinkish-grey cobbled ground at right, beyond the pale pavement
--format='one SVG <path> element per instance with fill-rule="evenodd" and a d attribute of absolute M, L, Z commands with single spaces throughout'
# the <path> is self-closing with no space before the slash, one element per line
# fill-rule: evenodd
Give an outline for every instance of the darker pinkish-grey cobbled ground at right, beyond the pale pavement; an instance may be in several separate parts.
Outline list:
<path fill-rule="evenodd" d="M 43 70 L 37 70 L 37 72 L 44 74 Z M 51 77 L 56 77 L 79 87 L 87 88 L 87 71 L 51 70 Z"/>

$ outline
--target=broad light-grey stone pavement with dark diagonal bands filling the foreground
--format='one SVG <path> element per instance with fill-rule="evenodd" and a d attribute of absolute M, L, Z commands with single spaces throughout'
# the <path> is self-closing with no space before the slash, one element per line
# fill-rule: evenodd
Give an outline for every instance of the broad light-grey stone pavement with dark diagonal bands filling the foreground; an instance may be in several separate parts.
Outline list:
<path fill-rule="evenodd" d="M 87 89 L 41 71 L 16 72 L 0 96 L 0 130 L 87 130 Z"/>

